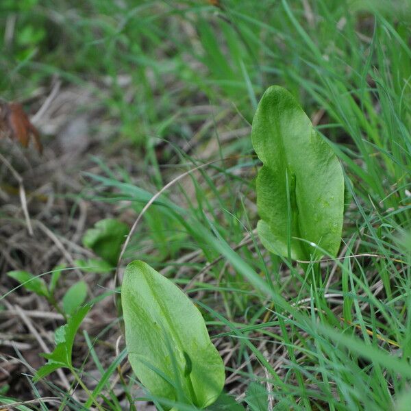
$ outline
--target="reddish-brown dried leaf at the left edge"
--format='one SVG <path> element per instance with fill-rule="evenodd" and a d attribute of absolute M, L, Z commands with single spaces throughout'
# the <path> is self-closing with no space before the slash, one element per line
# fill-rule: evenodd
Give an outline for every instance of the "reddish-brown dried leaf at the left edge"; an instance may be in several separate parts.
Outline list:
<path fill-rule="evenodd" d="M 29 139 L 32 137 L 38 152 L 42 153 L 40 134 L 30 123 L 20 103 L 0 101 L 0 137 L 4 136 L 17 140 L 23 147 L 29 145 Z"/>

